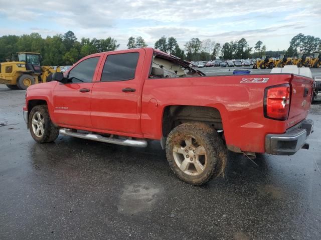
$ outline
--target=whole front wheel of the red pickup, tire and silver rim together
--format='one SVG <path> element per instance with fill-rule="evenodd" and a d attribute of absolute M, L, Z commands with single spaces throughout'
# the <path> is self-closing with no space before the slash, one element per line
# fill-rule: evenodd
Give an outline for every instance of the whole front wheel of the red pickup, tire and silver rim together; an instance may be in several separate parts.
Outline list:
<path fill-rule="evenodd" d="M 59 135 L 59 128 L 52 123 L 47 105 L 32 108 L 28 126 L 32 137 L 39 143 L 54 141 Z"/>

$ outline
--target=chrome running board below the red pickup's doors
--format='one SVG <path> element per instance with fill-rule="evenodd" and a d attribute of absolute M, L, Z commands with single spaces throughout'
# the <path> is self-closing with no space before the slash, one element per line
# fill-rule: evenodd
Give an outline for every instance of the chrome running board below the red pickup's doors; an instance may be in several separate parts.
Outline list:
<path fill-rule="evenodd" d="M 105 137 L 99 134 L 93 134 L 93 133 L 81 133 L 81 132 L 74 132 L 66 128 L 61 128 L 59 130 L 59 133 L 67 136 L 74 136 L 79 137 L 83 139 L 90 139 L 94 141 L 102 141 L 107 143 L 114 143 L 118 145 L 124 145 L 124 146 L 138 146 L 138 147 L 146 147 L 147 141 L 146 140 L 133 140 L 133 139 L 117 139 L 112 137 Z"/>

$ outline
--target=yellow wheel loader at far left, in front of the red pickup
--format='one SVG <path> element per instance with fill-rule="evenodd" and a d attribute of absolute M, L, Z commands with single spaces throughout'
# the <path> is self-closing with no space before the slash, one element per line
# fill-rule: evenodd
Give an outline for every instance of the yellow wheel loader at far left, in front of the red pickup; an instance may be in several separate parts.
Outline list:
<path fill-rule="evenodd" d="M 41 55 L 37 52 L 17 52 L 15 60 L 0 63 L 0 84 L 10 89 L 27 89 L 28 86 L 51 80 L 60 67 L 40 66 Z"/>

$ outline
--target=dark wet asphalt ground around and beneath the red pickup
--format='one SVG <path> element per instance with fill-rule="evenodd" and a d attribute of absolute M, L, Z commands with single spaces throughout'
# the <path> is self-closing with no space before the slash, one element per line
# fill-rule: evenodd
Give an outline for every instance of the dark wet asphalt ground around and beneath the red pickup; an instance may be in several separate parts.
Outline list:
<path fill-rule="evenodd" d="M 158 141 L 36 143 L 25 91 L 0 85 L 0 239 L 320 239 L 321 104 L 310 149 L 229 152 L 225 177 L 179 180 Z M 321 102 L 320 102 L 321 103 Z"/>

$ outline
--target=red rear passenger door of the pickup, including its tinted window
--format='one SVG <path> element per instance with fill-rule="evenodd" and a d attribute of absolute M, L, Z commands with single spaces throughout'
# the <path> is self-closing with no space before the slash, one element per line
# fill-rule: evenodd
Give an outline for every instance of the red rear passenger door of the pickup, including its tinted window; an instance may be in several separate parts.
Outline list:
<path fill-rule="evenodd" d="M 106 53 L 100 67 L 101 79 L 91 93 L 94 128 L 140 134 L 140 76 L 144 49 Z"/>

